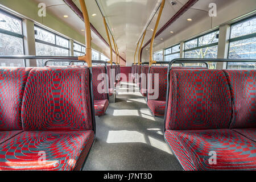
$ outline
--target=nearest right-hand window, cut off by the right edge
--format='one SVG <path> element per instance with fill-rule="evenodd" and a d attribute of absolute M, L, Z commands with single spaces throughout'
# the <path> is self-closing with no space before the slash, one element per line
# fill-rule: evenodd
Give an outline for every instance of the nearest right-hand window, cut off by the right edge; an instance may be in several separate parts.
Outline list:
<path fill-rule="evenodd" d="M 231 26 L 229 59 L 256 59 L 256 17 Z M 255 69 L 256 63 L 228 63 L 229 69 Z"/>

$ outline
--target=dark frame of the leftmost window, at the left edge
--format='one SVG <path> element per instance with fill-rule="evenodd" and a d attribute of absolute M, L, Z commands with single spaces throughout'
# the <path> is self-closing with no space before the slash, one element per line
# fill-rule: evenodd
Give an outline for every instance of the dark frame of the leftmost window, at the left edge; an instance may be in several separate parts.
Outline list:
<path fill-rule="evenodd" d="M 13 18 L 13 19 L 16 19 L 16 20 L 19 20 L 19 21 L 20 21 L 22 34 L 18 34 L 18 33 L 9 31 L 9 30 L 4 30 L 4 29 L 2 29 L 2 28 L 0 28 L 0 33 L 1 33 L 1 34 L 5 34 L 5 35 L 9 35 L 9 36 L 14 36 L 14 37 L 16 37 L 16 38 L 22 39 L 23 55 L 25 55 L 23 19 L 20 18 L 20 17 L 18 17 L 18 16 L 15 16 L 15 15 L 13 15 L 13 14 L 11 14 L 11 13 L 5 11 L 5 10 L 2 10 L 2 9 L 0 9 L 0 13 L 5 14 L 5 15 L 7 15 L 7 16 L 10 16 L 10 17 Z M 25 60 L 25 59 L 23 59 L 23 65 L 24 65 L 24 67 L 27 67 L 27 65 L 26 65 L 26 60 Z"/>

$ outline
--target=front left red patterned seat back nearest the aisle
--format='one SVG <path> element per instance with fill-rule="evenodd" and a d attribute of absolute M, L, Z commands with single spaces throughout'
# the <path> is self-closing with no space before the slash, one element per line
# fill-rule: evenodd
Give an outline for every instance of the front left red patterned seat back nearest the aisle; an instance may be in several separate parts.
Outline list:
<path fill-rule="evenodd" d="M 22 103 L 24 131 L 93 130 L 88 68 L 34 68 Z"/>

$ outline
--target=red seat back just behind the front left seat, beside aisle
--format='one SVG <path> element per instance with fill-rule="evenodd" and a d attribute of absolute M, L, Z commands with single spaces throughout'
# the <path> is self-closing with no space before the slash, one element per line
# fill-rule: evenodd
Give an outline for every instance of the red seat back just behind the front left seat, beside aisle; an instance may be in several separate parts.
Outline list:
<path fill-rule="evenodd" d="M 100 84 L 102 84 L 102 90 L 98 90 Z M 105 67 L 92 67 L 92 86 L 94 100 L 108 99 L 108 88 L 103 88 L 103 86 L 107 86 Z"/>

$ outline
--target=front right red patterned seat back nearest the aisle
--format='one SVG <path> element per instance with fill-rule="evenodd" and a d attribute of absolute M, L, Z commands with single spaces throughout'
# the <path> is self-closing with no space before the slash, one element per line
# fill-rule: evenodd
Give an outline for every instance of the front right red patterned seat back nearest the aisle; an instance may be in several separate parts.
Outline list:
<path fill-rule="evenodd" d="M 171 69 L 166 130 L 228 129 L 231 117 L 224 71 Z"/>

